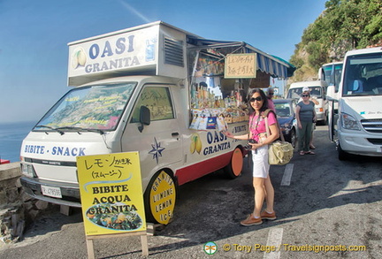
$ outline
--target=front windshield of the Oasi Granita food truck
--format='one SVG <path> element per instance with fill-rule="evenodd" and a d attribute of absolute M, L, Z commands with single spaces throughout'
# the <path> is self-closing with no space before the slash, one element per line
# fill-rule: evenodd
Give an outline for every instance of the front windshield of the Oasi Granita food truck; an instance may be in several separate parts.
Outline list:
<path fill-rule="evenodd" d="M 118 126 L 136 82 L 74 88 L 34 126 L 34 131 L 112 131 Z"/>

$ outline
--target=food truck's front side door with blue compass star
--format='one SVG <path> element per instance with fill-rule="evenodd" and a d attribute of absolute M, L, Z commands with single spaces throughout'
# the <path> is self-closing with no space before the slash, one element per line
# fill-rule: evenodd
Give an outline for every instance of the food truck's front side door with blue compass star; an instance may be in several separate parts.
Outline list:
<path fill-rule="evenodd" d="M 172 86 L 145 85 L 122 137 L 122 150 L 138 150 L 142 179 L 149 181 L 150 171 L 180 162 L 183 156 L 179 121 L 172 100 Z M 141 106 L 150 110 L 150 124 L 140 132 Z M 155 172 L 155 171 L 154 171 Z M 154 173 L 152 172 L 152 173 Z"/>

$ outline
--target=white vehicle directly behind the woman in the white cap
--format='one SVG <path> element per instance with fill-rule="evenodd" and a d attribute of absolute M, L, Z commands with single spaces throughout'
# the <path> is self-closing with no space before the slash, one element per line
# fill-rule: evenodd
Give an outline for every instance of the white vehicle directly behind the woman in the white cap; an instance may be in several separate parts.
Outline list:
<path fill-rule="evenodd" d="M 324 80 L 303 81 L 292 83 L 289 87 L 287 98 L 295 99 L 299 102 L 302 95 L 302 88 L 307 87 L 310 96 L 315 98 L 318 104 L 315 105 L 317 113 L 317 122 L 326 125 L 328 115 L 328 102 L 326 100 L 327 84 Z"/>

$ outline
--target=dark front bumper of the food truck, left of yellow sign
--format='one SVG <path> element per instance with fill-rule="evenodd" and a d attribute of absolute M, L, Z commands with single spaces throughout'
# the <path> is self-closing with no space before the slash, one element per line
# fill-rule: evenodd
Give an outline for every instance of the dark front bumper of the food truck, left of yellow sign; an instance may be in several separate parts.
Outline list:
<path fill-rule="evenodd" d="M 21 186 L 25 192 L 34 199 L 51 202 L 59 205 L 80 208 L 80 187 L 75 184 L 56 182 L 42 179 L 34 179 L 26 176 L 20 178 Z M 42 194 L 42 186 L 59 187 L 62 199 L 46 196 Z"/>

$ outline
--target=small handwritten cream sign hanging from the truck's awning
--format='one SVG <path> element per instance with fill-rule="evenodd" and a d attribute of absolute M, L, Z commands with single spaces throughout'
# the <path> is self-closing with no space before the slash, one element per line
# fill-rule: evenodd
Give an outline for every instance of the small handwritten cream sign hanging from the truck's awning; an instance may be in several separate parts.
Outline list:
<path fill-rule="evenodd" d="M 256 78 L 256 53 L 230 54 L 225 57 L 225 78 Z"/>

